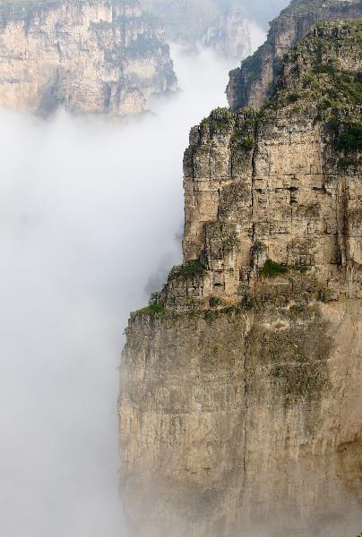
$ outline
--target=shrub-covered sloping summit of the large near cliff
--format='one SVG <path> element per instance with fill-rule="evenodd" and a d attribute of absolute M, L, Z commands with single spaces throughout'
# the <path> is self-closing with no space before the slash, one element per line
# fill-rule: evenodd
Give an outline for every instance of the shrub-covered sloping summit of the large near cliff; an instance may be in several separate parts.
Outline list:
<path fill-rule="evenodd" d="M 360 117 L 362 19 L 317 23 L 306 38 L 284 55 L 280 78 L 267 107 L 315 100 L 323 117 Z"/>

